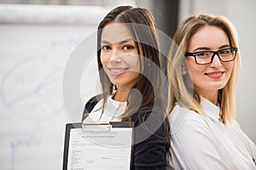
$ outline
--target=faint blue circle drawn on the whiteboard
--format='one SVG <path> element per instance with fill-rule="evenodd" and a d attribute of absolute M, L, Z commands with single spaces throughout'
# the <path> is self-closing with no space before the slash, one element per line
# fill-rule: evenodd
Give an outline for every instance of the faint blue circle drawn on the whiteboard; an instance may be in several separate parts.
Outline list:
<path fill-rule="evenodd" d="M 61 80 L 60 66 L 45 57 L 29 57 L 3 76 L 0 96 L 4 105 L 21 116 L 44 119 L 62 109 Z M 41 114 L 32 115 L 32 110 L 41 111 Z"/>

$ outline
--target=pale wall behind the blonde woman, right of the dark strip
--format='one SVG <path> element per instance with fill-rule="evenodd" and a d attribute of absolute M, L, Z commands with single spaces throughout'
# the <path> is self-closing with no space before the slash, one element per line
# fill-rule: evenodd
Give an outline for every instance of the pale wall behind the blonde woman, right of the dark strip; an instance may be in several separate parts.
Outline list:
<path fill-rule="evenodd" d="M 222 14 L 235 26 L 241 52 L 241 77 L 236 91 L 237 121 L 256 143 L 256 1 L 254 0 L 181 0 L 179 20 L 189 14 Z"/>

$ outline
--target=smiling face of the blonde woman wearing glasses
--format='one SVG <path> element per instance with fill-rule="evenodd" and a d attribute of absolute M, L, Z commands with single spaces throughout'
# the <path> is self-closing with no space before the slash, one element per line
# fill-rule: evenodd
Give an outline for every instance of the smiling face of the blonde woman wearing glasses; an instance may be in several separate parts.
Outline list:
<path fill-rule="evenodd" d="M 229 38 L 225 32 L 217 26 L 201 27 L 189 40 L 188 52 L 218 51 L 230 48 Z M 208 98 L 214 95 L 217 99 L 218 89 L 224 88 L 230 79 L 233 61 L 222 62 L 215 55 L 212 63 L 197 65 L 192 56 L 186 57 L 195 91 Z"/>

